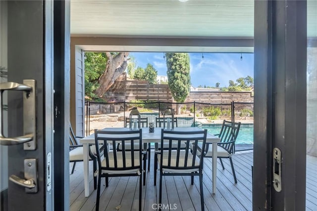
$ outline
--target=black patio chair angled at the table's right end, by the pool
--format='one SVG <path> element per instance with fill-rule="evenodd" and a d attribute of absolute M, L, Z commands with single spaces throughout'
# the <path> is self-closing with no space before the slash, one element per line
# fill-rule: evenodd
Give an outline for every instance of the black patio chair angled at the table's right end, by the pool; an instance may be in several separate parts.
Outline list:
<path fill-rule="evenodd" d="M 234 171 L 231 157 L 234 154 L 234 144 L 239 134 L 240 125 L 241 125 L 241 122 L 230 122 L 230 121 L 223 120 L 220 133 L 215 134 L 215 136 L 218 136 L 220 138 L 220 143 L 218 143 L 217 145 L 217 158 L 220 159 L 222 169 L 224 169 L 224 165 L 222 163 L 221 158 L 229 158 L 235 183 L 237 183 L 237 177 Z M 212 158 L 212 147 L 210 145 L 211 143 L 206 144 L 205 158 Z M 193 148 L 194 146 L 191 146 L 191 149 Z M 202 149 L 203 149 L 202 146 L 199 144 L 198 145 L 199 153 L 202 152 Z"/>

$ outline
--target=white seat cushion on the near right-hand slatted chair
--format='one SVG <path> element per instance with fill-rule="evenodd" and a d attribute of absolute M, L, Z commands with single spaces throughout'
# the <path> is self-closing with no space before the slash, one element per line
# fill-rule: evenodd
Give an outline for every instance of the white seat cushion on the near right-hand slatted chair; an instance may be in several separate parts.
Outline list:
<path fill-rule="evenodd" d="M 161 155 L 158 154 L 159 166 L 161 166 L 160 156 Z M 177 152 L 172 152 L 172 154 L 171 154 L 171 162 L 170 162 L 171 166 L 175 166 L 176 167 L 176 156 L 177 156 Z M 199 166 L 199 161 L 200 161 L 200 159 L 198 157 L 196 157 L 195 166 Z M 184 167 L 184 162 L 185 162 L 185 152 L 184 151 L 180 151 L 178 166 L 179 167 Z M 192 162 L 193 162 L 193 155 L 191 153 L 188 153 L 187 166 L 191 166 Z M 168 164 L 168 153 L 163 153 L 163 162 L 162 162 L 162 164 L 165 165 L 165 166 Z M 191 172 L 194 172 L 194 171 L 199 171 L 199 167 L 194 168 L 194 169 L 169 169 L 169 168 L 163 168 L 162 167 L 162 171 L 164 173 L 166 173 L 166 172 L 167 173 L 191 173 Z"/>

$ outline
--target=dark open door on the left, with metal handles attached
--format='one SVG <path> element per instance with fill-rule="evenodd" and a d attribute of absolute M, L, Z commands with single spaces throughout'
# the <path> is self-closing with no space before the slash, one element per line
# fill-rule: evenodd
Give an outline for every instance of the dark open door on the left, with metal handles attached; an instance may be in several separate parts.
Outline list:
<path fill-rule="evenodd" d="M 7 11 L 8 81 L 36 80 L 37 143 L 34 151 L 24 151 L 23 145 L 8 147 L 8 175 L 23 178 L 25 158 L 35 158 L 38 167 L 38 192 L 26 194 L 9 182 L 8 208 L 53 210 L 53 188 L 47 189 L 47 154 L 53 152 L 53 1 L 7 1 Z M 9 137 L 23 134 L 22 105 L 21 93 L 8 95 Z"/>

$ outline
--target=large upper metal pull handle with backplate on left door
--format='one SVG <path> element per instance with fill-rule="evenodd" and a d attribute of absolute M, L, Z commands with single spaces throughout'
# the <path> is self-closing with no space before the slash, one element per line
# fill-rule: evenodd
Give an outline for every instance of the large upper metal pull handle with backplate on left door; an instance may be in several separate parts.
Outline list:
<path fill-rule="evenodd" d="M 23 96 L 23 136 L 18 137 L 5 137 L 3 135 L 3 115 L 2 115 L 2 93 L 6 90 L 24 91 L 26 95 Z M 23 144 L 24 150 L 36 150 L 36 118 L 35 118 L 35 80 L 23 80 L 23 84 L 14 82 L 1 83 L 0 86 L 0 145 L 17 145 Z"/>

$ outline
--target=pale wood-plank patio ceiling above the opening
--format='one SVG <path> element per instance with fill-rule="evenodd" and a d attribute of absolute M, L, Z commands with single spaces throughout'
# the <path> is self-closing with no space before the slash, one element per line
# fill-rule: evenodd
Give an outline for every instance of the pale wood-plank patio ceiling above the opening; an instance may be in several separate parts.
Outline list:
<path fill-rule="evenodd" d="M 71 0 L 71 35 L 250 39 L 254 0 Z"/>

